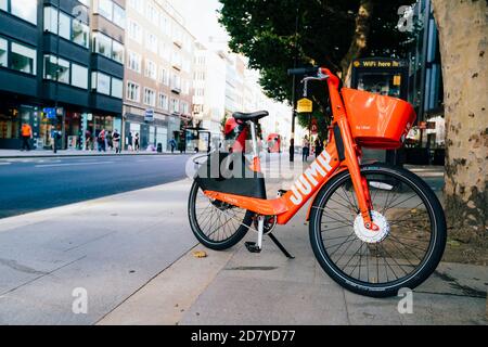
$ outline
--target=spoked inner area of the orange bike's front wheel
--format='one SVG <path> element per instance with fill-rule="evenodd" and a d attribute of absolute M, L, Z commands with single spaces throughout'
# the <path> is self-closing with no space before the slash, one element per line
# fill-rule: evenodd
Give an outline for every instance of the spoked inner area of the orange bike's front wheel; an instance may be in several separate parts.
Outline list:
<path fill-rule="evenodd" d="M 326 264 L 333 264 L 337 268 L 334 271 L 342 271 L 344 278 L 361 283 L 383 285 L 409 278 L 424 261 L 428 250 L 434 232 L 428 217 L 433 213 L 432 208 L 428 209 L 431 205 L 425 204 L 416 183 L 402 179 L 398 174 L 364 172 L 364 177 L 368 182 L 385 182 L 393 187 L 375 188 L 371 192 L 374 210 L 384 216 L 389 232 L 385 240 L 374 244 L 356 235 L 357 200 L 350 189 L 350 179 L 345 177 L 320 206 L 313 206 L 320 209 L 317 211 L 320 216 L 317 220 L 321 234 L 319 242 L 321 240 L 329 259 Z"/>

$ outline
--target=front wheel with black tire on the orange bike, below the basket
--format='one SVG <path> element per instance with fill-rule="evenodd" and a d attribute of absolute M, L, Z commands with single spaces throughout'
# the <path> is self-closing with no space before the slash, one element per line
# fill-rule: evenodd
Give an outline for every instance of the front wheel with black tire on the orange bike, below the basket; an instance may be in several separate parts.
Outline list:
<path fill-rule="evenodd" d="M 348 171 L 344 171 L 325 184 L 312 203 L 309 224 L 311 246 L 323 270 L 345 288 L 371 297 L 396 296 L 402 287 L 413 290 L 419 286 L 434 272 L 439 264 L 447 237 L 444 210 L 432 189 L 421 178 L 408 170 L 386 165 L 370 165 L 363 166 L 361 174 L 369 181 L 373 209 L 376 209 L 380 202 L 384 201 L 382 214 L 385 217 L 391 216 L 388 217 L 391 219 L 388 221 L 389 233 L 386 239 L 377 243 L 368 243 L 359 239 L 355 233 L 354 226 L 349 224 L 349 221 L 355 218 L 355 214 L 359 213 L 359 208 L 357 207 L 351 187 L 350 175 Z M 373 181 L 374 183 L 372 183 Z M 341 189 L 342 191 L 339 191 Z M 397 191 L 395 192 L 396 189 Z M 402 196 L 408 189 L 412 192 L 411 197 L 409 197 L 410 195 Z M 339 194 L 344 194 L 347 198 L 344 201 L 338 200 Z M 390 197 L 391 194 L 393 197 Z M 398 200 L 404 202 L 406 205 L 413 205 L 415 203 L 412 202 L 413 197 L 421 202 L 415 207 L 398 207 Z M 423 205 L 421 206 L 421 204 Z M 334 205 L 341 208 L 337 208 L 335 211 L 332 210 L 331 215 L 328 215 Z M 346 207 L 346 210 L 343 207 Z M 406 210 L 407 213 L 404 213 Z M 322 218 L 325 218 L 324 222 Z M 424 223 L 425 228 L 422 227 Z M 325 226 L 323 227 L 323 224 Z M 333 228 L 330 228 L 328 231 L 326 228 L 329 227 Z M 403 229 L 397 233 L 398 228 Z M 426 231 L 429 231 L 428 235 Z M 329 237 L 329 241 L 323 240 L 324 236 L 334 235 L 334 233 L 335 235 L 341 233 L 343 236 L 336 236 L 335 240 L 334 237 Z M 344 236 L 347 233 L 349 233 L 349 236 Z M 352 236 L 352 240 L 350 240 L 350 236 Z M 338 244 L 328 246 L 328 244 L 334 242 Z M 356 256 L 355 261 L 350 262 L 351 257 L 347 264 L 341 265 L 342 259 L 335 254 L 338 253 L 338 249 L 342 249 L 341 252 L 344 252 L 342 257 L 344 257 L 349 252 L 344 258 L 343 262 L 345 262 L 356 249 L 356 246 L 350 248 L 355 242 L 360 244 L 358 250 L 352 255 L 352 257 Z M 346 247 L 346 245 L 350 250 L 344 250 L 343 247 Z M 423 257 L 419 256 L 419 249 L 421 249 L 420 252 L 425 252 Z M 384 270 L 382 271 L 386 273 L 386 275 L 383 274 L 383 280 L 380 274 L 380 255 L 383 257 L 382 267 L 384 267 Z M 415 255 L 419 260 L 415 260 L 412 255 Z M 359 269 L 357 268 L 358 257 Z M 362 259 L 365 259 L 365 267 Z M 370 264 L 370 259 L 372 264 Z M 412 259 L 418 265 L 412 264 Z M 376 262 L 376 273 L 374 273 L 374 260 Z M 406 261 L 409 264 L 406 264 Z M 356 267 L 350 271 L 349 268 L 355 264 Z M 410 268 L 412 268 L 411 272 L 404 270 Z M 365 269 L 362 271 L 362 277 L 361 269 Z M 372 275 L 370 273 L 371 269 Z M 398 277 L 396 272 L 400 273 L 400 270 L 406 275 Z M 389 279 L 388 271 L 390 277 L 395 274 L 397 278 Z M 358 272 L 359 275 L 357 275 Z"/>

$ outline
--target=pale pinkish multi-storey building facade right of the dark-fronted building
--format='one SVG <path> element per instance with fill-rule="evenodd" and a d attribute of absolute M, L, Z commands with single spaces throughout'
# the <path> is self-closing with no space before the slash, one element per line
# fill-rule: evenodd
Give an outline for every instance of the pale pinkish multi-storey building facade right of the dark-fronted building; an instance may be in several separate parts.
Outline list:
<path fill-rule="evenodd" d="M 136 134 L 142 149 L 166 151 L 191 124 L 194 38 L 163 0 L 129 0 L 124 93 L 124 142 Z"/>

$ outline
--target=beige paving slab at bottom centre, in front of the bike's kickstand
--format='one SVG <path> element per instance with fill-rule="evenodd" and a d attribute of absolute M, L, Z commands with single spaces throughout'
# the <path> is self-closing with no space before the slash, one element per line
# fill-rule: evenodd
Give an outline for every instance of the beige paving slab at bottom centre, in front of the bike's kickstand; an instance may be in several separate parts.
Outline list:
<path fill-rule="evenodd" d="M 337 286 L 219 273 L 181 324 L 348 324 Z"/>

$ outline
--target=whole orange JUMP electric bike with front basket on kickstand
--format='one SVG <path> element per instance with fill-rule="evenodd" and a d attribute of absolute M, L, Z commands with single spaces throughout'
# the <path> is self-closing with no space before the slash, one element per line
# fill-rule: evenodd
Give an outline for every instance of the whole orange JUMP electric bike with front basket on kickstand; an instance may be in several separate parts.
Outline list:
<path fill-rule="evenodd" d="M 226 139 L 233 140 L 230 150 L 209 154 L 195 174 L 188 206 L 195 236 L 221 250 L 253 230 L 257 242 L 245 244 L 249 252 L 260 252 L 268 235 L 292 257 L 272 231 L 311 201 L 307 211 L 311 246 L 318 262 L 337 283 L 374 297 L 416 287 L 442 257 L 442 207 L 414 174 L 362 163 L 363 147 L 400 147 L 415 112 L 399 99 L 341 88 L 339 79 L 326 68 L 291 74 L 308 76 L 305 83 L 326 81 L 333 116 L 329 145 L 288 191 L 268 200 L 256 136 L 259 119 L 268 113 L 234 114 L 226 124 Z M 248 130 L 252 159 L 244 154 Z"/>

